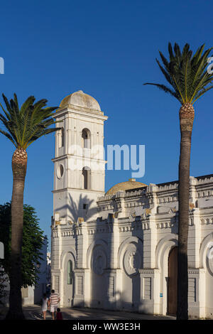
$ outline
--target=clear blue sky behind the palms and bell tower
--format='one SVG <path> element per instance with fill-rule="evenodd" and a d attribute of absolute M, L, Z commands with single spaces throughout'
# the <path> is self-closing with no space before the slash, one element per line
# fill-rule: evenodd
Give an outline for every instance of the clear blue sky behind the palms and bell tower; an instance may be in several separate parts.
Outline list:
<path fill-rule="evenodd" d="M 192 50 L 212 47 L 211 1 L 4 1 L 1 3 L 0 93 L 20 102 L 29 95 L 59 105 L 83 90 L 109 116 L 105 144 L 146 145 L 146 173 L 137 181 L 178 178 L 179 102 L 144 82 L 164 82 L 155 58 L 168 41 Z M 165 82 L 164 82 L 165 83 Z M 191 175 L 212 173 L 213 90 L 195 104 Z M 2 98 L 0 97 L 2 102 Z M 0 203 L 11 200 L 12 144 L 0 136 Z M 25 203 L 33 205 L 50 236 L 54 136 L 28 149 Z M 107 171 L 106 190 L 131 178 Z"/>

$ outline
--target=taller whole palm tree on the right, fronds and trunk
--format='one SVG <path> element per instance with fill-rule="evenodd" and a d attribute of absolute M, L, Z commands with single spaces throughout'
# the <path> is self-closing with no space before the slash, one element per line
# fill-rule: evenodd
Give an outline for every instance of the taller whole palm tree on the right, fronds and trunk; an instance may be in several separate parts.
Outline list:
<path fill-rule="evenodd" d="M 204 45 L 197 49 L 194 55 L 190 45 L 180 47 L 175 43 L 168 44 L 169 59 L 160 53 L 162 63 L 156 59 L 158 66 L 170 86 L 149 83 L 160 90 L 169 93 L 181 104 L 180 118 L 180 161 L 179 161 L 179 223 L 178 223 L 178 319 L 188 318 L 188 273 L 187 273 L 187 238 L 189 224 L 189 195 L 190 195 L 190 151 L 192 126 L 195 118 L 193 104 L 211 90 L 213 74 L 207 71 L 208 56 L 212 48 L 204 51 Z M 204 51 L 204 53 L 203 53 Z"/>

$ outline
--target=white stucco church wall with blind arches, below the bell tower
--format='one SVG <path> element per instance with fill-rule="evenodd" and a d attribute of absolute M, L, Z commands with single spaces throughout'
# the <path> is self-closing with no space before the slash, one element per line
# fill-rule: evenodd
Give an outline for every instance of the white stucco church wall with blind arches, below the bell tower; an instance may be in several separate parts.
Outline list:
<path fill-rule="evenodd" d="M 213 178 L 207 178 L 202 183 L 197 181 L 196 192 L 204 186 L 210 193 L 201 203 L 212 197 Z M 115 217 L 115 197 L 106 196 L 99 198 L 97 203 L 102 208 L 99 217 L 107 216 L 105 219 L 97 218 L 75 225 L 54 225 L 53 221 L 52 274 L 53 281 L 55 275 L 60 281 L 59 292 L 65 289 L 60 254 L 71 252 L 75 259 L 70 306 L 167 313 L 168 256 L 170 249 L 178 244 L 178 212 L 170 210 L 178 206 L 175 195 L 171 196 L 177 193 L 177 184 L 170 189 L 165 186 L 165 198 L 170 195 L 175 200 L 163 203 L 159 203 L 163 200 L 163 189 L 158 185 L 156 187 L 155 203 L 151 193 L 147 193 L 151 208 L 149 213 L 146 213 L 147 205 L 143 205 L 146 195 L 134 193 L 129 196 L 120 192 L 125 209 L 129 210 L 126 217 L 119 218 L 120 213 Z M 138 204 L 140 200 L 141 205 Z M 159 211 L 159 206 L 165 209 Z M 140 215 L 133 215 L 135 208 Z M 213 264 L 207 256 L 212 245 L 213 207 L 192 208 L 188 238 L 189 311 L 192 317 L 212 318 Z"/>

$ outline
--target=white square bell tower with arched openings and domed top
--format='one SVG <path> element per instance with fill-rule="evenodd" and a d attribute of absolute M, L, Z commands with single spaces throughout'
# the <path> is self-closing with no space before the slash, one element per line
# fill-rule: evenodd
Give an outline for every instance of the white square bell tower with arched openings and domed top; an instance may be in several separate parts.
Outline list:
<path fill-rule="evenodd" d="M 60 103 L 55 120 L 53 217 L 60 224 L 92 220 L 104 194 L 104 121 L 96 99 L 82 90 Z"/>

